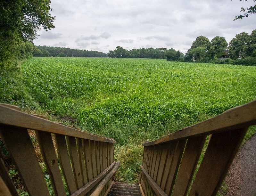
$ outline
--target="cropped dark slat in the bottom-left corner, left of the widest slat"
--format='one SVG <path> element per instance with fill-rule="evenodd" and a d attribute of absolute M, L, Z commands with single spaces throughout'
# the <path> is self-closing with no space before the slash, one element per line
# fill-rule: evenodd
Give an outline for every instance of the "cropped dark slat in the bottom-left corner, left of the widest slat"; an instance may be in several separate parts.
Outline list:
<path fill-rule="evenodd" d="M 18 192 L 4 165 L 3 151 L 0 147 L 0 195 L 18 196 Z"/>

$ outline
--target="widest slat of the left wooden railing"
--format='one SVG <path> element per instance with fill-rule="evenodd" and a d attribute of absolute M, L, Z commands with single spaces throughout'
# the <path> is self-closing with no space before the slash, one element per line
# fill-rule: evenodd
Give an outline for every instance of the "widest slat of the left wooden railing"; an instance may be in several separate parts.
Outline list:
<path fill-rule="evenodd" d="M 50 195 L 27 129 L 3 125 L 0 135 L 29 194 Z"/>

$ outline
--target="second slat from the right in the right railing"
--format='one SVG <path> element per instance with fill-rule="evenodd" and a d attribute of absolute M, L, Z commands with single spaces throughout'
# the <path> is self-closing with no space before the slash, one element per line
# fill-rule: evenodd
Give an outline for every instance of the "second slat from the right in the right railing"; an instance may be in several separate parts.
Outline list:
<path fill-rule="evenodd" d="M 201 155 L 206 136 L 189 138 L 181 160 L 173 196 L 185 195 L 190 186 L 194 171 Z"/>

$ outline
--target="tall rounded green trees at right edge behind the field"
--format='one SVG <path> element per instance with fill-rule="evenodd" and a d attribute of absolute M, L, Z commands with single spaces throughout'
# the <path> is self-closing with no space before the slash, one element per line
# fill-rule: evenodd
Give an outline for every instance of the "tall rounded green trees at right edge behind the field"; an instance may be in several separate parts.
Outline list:
<path fill-rule="evenodd" d="M 228 49 L 228 50 L 227 50 Z M 218 60 L 227 56 L 226 60 Z M 249 35 L 239 33 L 229 44 L 224 37 L 216 36 L 210 41 L 207 37 L 199 36 L 187 50 L 185 62 L 201 61 L 210 63 L 227 63 L 256 65 L 256 29 Z"/>

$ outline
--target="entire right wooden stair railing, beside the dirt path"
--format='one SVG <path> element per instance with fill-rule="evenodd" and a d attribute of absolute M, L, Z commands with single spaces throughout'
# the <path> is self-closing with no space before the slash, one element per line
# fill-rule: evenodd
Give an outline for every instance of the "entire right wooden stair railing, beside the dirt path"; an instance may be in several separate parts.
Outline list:
<path fill-rule="evenodd" d="M 143 192 L 145 195 L 181 196 L 188 192 L 193 196 L 216 195 L 248 127 L 255 124 L 256 100 L 143 143 L 140 179 Z M 207 148 L 202 152 L 204 145 Z M 200 156 L 203 158 L 197 168 Z"/>

